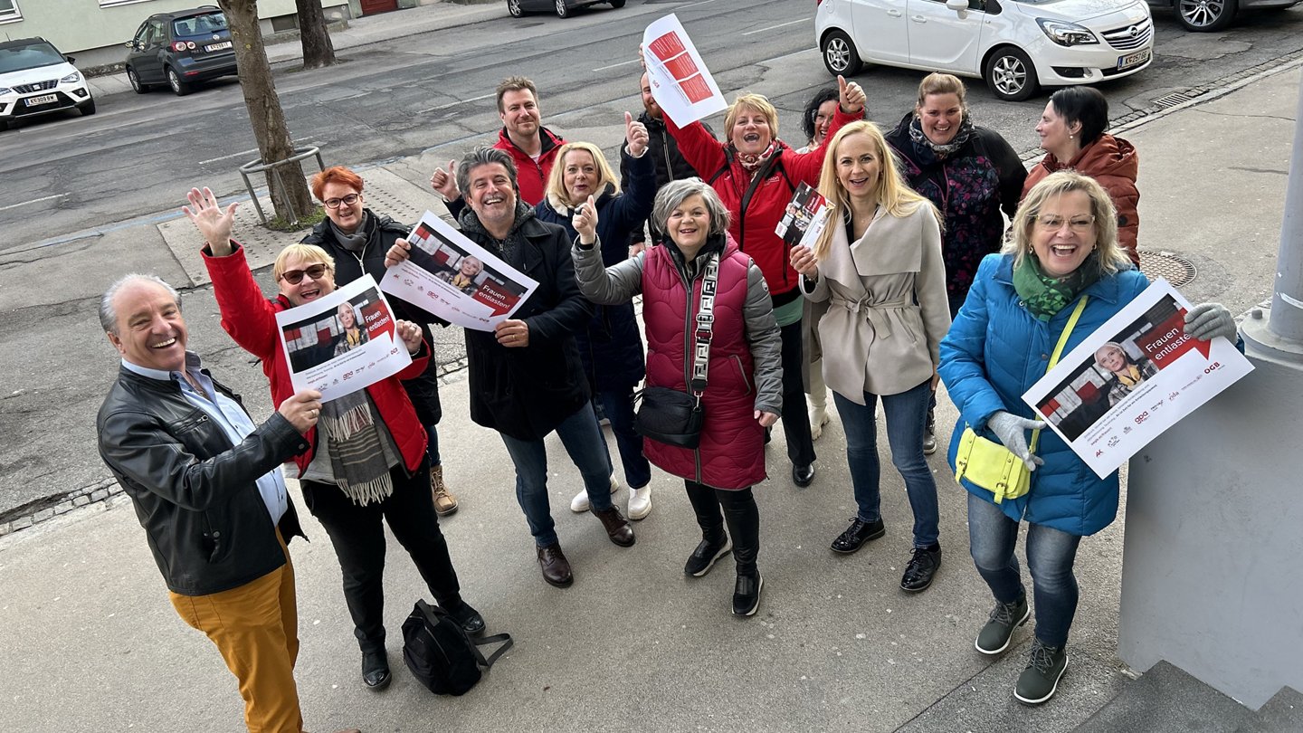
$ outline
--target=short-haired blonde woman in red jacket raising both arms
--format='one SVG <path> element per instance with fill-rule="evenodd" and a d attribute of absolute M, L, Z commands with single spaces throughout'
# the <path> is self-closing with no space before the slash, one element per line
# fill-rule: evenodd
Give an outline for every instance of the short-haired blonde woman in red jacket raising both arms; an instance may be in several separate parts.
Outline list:
<path fill-rule="evenodd" d="M 864 90 L 838 77 L 838 110 L 827 132 L 864 117 Z M 822 146 L 796 153 L 778 140 L 778 111 L 760 94 L 740 94 L 724 117 L 727 141 L 714 138 L 701 123 L 679 128 L 666 115 L 666 129 L 683 158 L 710 184 L 728 209 L 728 233 L 765 274 L 783 339 L 783 434 L 792 462 L 792 481 L 814 480 L 814 442 L 801 383 L 801 309 L 796 270 L 787 244 L 774 232 L 796 188 L 818 185 Z"/>

